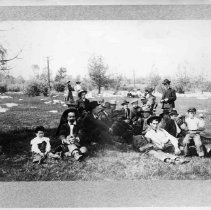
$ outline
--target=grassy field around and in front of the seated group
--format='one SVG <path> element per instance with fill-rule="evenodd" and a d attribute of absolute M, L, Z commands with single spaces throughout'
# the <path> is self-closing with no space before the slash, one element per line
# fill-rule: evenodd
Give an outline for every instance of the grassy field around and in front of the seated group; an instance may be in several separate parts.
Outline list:
<path fill-rule="evenodd" d="M 19 100 L 23 99 L 23 100 Z M 43 100 L 41 100 L 43 99 Z M 57 96 L 53 99 L 63 99 Z M 121 102 L 123 98 L 116 98 Z M 60 116 L 66 109 L 63 104 L 45 104 L 50 98 L 28 98 L 12 95 L 12 98 L 0 99 L 0 106 L 17 103 L 18 106 L 0 113 L 0 141 L 4 153 L 0 155 L 0 181 L 40 181 L 40 180 L 137 180 L 137 179 L 210 179 L 211 159 L 193 157 L 184 165 L 169 165 L 155 160 L 147 154 L 135 152 L 127 146 L 97 145 L 91 148 L 82 162 L 72 158 L 47 160 L 36 165 L 31 161 L 30 140 L 33 129 L 43 125 L 46 136 L 51 137 L 52 145 L 58 141 L 54 134 Z M 109 100 L 109 98 L 107 99 Z M 201 113 L 205 110 L 206 131 L 211 130 L 211 99 L 178 98 L 176 107 L 179 113 L 185 113 L 189 106 L 196 106 Z M 57 113 L 49 111 L 57 110 Z M 158 113 L 161 112 L 160 105 Z M 206 144 L 209 142 L 205 142 Z"/>

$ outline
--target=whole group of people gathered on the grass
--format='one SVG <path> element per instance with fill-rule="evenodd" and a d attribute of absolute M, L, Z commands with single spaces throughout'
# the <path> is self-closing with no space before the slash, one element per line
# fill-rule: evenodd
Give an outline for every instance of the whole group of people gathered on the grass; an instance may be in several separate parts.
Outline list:
<path fill-rule="evenodd" d="M 151 87 L 146 87 L 138 99 L 124 100 L 119 109 L 115 100 L 89 101 L 87 91 L 79 90 L 78 99 L 61 116 L 56 133 L 58 147 L 51 149 L 44 128 L 36 128 L 36 138 L 31 141 L 33 162 L 63 156 L 81 161 L 95 144 L 129 145 L 169 163 L 188 162 L 185 157 L 191 156 L 194 148 L 199 157 L 208 155 L 210 149 L 200 139 L 205 128 L 203 116 L 196 117 L 194 107 L 187 110 L 188 116 L 179 115 L 175 110 L 175 90 L 167 79 L 163 85 L 160 115 L 156 115 L 158 103 Z"/>

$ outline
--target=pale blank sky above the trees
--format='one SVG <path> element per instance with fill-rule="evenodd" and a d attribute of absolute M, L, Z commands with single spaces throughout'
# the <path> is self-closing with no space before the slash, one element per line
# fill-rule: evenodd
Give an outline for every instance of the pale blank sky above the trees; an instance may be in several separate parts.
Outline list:
<path fill-rule="evenodd" d="M 0 44 L 13 57 L 10 74 L 29 79 L 32 65 L 53 75 L 60 67 L 72 76 L 88 73 L 88 60 L 102 56 L 109 73 L 132 78 L 156 71 L 162 77 L 201 72 L 211 80 L 211 20 L 2 21 Z"/>

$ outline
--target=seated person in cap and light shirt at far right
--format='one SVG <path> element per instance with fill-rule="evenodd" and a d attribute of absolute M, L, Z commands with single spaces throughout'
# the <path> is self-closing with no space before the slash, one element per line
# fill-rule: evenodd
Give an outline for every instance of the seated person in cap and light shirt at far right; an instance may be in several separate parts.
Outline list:
<path fill-rule="evenodd" d="M 185 118 L 187 134 L 183 139 L 185 155 L 189 155 L 189 145 L 191 140 L 194 141 L 196 151 L 199 157 L 204 157 L 204 146 L 200 138 L 200 132 L 205 129 L 205 122 L 203 119 L 196 117 L 196 108 L 190 107 L 188 110 L 188 117 Z"/>

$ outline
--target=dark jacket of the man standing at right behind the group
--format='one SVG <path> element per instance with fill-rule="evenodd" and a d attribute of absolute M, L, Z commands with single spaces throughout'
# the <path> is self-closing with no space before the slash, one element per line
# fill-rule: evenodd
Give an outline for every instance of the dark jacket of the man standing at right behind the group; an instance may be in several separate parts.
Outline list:
<path fill-rule="evenodd" d="M 175 101 L 177 99 L 176 92 L 174 89 L 169 88 L 168 90 L 164 90 L 162 98 L 168 98 L 167 102 L 162 102 L 162 109 L 172 109 L 175 107 Z"/>

